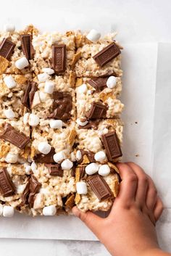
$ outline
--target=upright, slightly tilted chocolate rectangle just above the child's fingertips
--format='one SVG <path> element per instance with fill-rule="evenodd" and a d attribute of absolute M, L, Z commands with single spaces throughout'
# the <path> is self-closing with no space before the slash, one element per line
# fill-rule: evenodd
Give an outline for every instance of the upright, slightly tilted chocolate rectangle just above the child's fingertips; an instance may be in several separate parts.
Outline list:
<path fill-rule="evenodd" d="M 117 139 L 117 133 L 112 131 L 102 135 L 102 142 L 107 152 L 107 157 L 110 161 L 114 161 L 117 157 L 122 157 L 120 143 Z"/>

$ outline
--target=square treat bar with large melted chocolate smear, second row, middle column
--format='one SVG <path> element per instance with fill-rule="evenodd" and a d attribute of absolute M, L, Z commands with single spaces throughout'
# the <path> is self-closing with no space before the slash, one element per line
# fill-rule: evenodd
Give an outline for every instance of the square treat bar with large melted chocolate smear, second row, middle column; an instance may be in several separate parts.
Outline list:
<path fill-rule="evenodd" d="M 70 77 L 48 75 L 42 81 L 38 75 L 34 81 L 36 92 L 30 106 L 33 114 L 64 122 L 75 120 L 75 91 L 71 88 Z"/>

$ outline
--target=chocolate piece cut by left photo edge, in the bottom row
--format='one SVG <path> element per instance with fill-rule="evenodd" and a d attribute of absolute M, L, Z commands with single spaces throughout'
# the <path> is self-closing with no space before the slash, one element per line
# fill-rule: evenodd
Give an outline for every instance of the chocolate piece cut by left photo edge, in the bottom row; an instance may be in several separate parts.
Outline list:
<path fill-rule="evenodd" d="M 9 176 L 7 168 L 0 169 L 0 192 L 3 197 L 10 197 L 14 194 L 15 188 Z"/>

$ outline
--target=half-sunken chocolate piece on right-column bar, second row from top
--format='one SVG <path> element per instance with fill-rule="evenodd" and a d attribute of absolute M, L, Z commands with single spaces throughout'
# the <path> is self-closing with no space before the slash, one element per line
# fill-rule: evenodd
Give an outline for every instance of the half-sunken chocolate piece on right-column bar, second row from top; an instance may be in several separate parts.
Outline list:
<path fill-rule="evenodd" d="M 89 119 L 105 118 L 107 115 L 107 106 L 101 102 L 93 102 L 91 104 L 91 110 L 88 112 L 87 117 Z"/>

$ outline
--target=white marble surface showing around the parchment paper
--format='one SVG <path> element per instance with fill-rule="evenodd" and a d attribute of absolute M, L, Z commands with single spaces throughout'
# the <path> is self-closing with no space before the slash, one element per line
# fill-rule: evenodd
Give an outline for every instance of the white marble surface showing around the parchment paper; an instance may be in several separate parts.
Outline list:
<path fill-rule="evenodd" d="M 91 17 L 96 17 L 93 27 L 118 30 L 123 44 L 171 41 L 170 0 L 8 0 L 1 3 L 1 10 L 1 27 L 17 20 L 20 28 L 33 22 L 42 30 L 91 29 Z M 157 230 L 160 244 L 171 252 L 171 210 L 164 211 Z M 0 239 L 0 247 L 1 255 L 8 256 L 20 256 L 23 252 L 26 256 L 109 255 L 98 241 Z"/>

